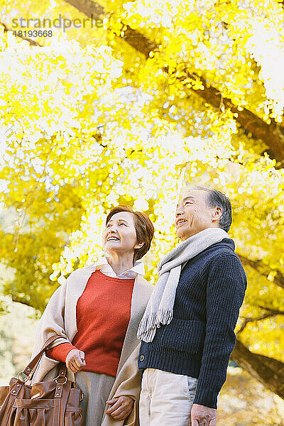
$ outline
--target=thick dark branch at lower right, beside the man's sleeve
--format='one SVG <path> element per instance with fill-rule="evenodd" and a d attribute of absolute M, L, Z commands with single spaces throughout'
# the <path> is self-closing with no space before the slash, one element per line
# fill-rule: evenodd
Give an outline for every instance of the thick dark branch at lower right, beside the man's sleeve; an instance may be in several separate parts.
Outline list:
<path fill-rule="evenodd" d="M 236 364 L 248 371 L 263 386 L 284 399 L 284 363 L 268 356 L 253 354 L 239 339 L 231 354 Z"/>

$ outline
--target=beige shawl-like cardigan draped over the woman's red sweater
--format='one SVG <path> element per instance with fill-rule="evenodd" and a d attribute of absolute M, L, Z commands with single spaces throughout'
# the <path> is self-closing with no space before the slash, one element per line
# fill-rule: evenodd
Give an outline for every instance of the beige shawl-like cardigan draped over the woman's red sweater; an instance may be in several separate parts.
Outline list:
<path fill-rule="evenodd" d="M 58 334 L 61 337 L 52 346 L 66 343 L 66 341 L 72 342 L 77 333 L 77 300 L 82 295 L 89 277 L 96 269 L 96 263 L 77 269 L 70 274 L 63 285 L 60 285 L 55 290 L 35 332 L 35 347 L 32 357 L 40 351 L 40 348 L 50 336 Z M 104 415 L 102 426 L 138 426 L 138 398 L 141 391 L 141 375 L 137 367 L 140 342 L 136 337 L 136 333 L 152 290 L 153 285 L 149 284 L 142 275 L 137 275 L 131 299 L 129 326 L 126 330 L 114 386 L 109 394 L 109 399 L 120 395 L 131 396 L 135 400 L 132 413 L 124 421 L 113 420 L 109 415 Z M 44 354 L 33 376 L 33 383 L 52 380 L 55 377 L 57 366 L 58 361 L 54 361 Z M 75 379 L 74 374 L 70 371 L 68 371 L 68 378 L 73 381 Z"/>

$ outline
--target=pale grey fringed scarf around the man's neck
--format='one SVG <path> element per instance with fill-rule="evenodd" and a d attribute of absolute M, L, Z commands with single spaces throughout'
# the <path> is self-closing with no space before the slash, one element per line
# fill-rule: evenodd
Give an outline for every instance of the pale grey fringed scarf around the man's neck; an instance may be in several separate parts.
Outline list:
<path fill-rule="evenodd" d="M 160 325 L 169 324 L 173 318 L 175 291 L 180 280 L 182 266 L 212 244 L 219 243 L 229 235 L 221 228 L 207 228 L 182 241 L 169 251 L 158 263 L 158 281 L 155 284 L 146 311 L 139 324 L 137 337 L 143 342 L 152 342 Z"/>

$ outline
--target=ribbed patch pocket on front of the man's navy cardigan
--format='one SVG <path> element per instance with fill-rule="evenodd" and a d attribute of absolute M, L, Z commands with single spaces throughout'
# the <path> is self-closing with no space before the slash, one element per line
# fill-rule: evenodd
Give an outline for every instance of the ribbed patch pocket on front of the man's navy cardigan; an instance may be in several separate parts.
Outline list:
<path fill-rule="evenodd" d="M 204 335 L 203 322 L 173 318 L 170 324 L 163 326 L 160 345 L 189 354 L 198 354 L 202 351 Z"/>

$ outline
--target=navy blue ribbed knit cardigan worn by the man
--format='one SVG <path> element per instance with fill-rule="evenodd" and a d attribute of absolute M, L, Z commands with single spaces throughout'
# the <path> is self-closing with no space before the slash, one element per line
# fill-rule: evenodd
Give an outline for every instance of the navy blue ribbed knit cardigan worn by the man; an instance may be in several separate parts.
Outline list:
<path fill-rule="evenodd" d="M 138 367 L 158 368 L 198 378 L 194 403 L 217 408 L 234 349 L 234 328 L 244 300 L 246 275 L 223 239 L 188 261 L 180 274 L 173 320 L 141 342 Z"/>

